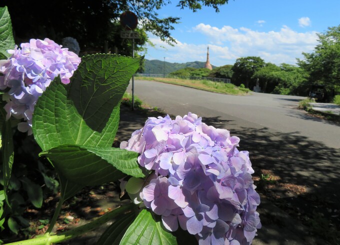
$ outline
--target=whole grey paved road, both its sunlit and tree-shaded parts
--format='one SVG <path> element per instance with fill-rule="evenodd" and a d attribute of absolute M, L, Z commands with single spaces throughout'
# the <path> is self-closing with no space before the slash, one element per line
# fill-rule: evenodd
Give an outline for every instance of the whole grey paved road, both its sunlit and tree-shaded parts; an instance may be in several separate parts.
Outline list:
<path fill-rule="evenodd" d="M 250 152 L 255 174 L 269 170 L 279 177 L 271 189 L 278 203 L 287 203 L 294 213 L 322 213 L 329 223 L 340 223 L 340 127 L 298 110 L 303 97 L 224 95 L 142 80 L 135 81 L 135 94 L 172 118 L 191 111 L 208 125 L 230 130 L 240 137 L 238 148 Z M 324 243 L 264 197 L 259 213 L 262 229 L 254 244 Z"/>

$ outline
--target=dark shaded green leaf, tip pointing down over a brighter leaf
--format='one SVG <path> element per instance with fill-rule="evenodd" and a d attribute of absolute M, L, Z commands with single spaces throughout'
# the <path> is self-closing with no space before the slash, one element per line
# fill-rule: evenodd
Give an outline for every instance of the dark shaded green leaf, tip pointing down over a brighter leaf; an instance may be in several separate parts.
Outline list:
<path fill-rule="evenodd" d="M 138 69 L 140 60 L 107 54 L 82 58 L 86 65 L 79 65 L 67 94 L 90 128 L 95 131 L 104 128 L 132 74 Z"/>

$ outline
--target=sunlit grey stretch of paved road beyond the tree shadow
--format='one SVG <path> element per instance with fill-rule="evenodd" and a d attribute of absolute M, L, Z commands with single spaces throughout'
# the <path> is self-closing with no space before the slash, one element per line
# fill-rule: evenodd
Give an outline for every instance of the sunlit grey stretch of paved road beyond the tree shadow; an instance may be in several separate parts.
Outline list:
<path fill-rule="evenodd" d="M 308 116 L 296 108 L 298 101 L 304 97 L 263 93 L 253 93 L 251 96 L 225 95 L 142 80 L 135 81 L 135 94 L 149 105 L 173 115 L 184 115 L 191 111 L 202 117 L 228 120 L 228 129 L 267 127 L 278 132 L 302 135 L 328 147 L 340 148 L 339 126 Z"/>

